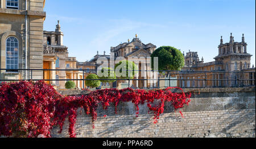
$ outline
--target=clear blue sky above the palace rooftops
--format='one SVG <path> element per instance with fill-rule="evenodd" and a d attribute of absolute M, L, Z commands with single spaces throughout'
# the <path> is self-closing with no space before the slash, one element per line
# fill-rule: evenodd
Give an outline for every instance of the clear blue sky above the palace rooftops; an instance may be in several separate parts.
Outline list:
<path fill-rule="evenodd" d="M 255 66 L 255 0 L 47 0 L 44 30 L 55 31 L 60 20 L 69 56 L 92 59 L 97 51 L 132 40 L 157 47 L 171 45 L 181 52 L 197 51 L 205 62 L 218 55 L 220 36 L 235 42 L 245 34 Z"/>

